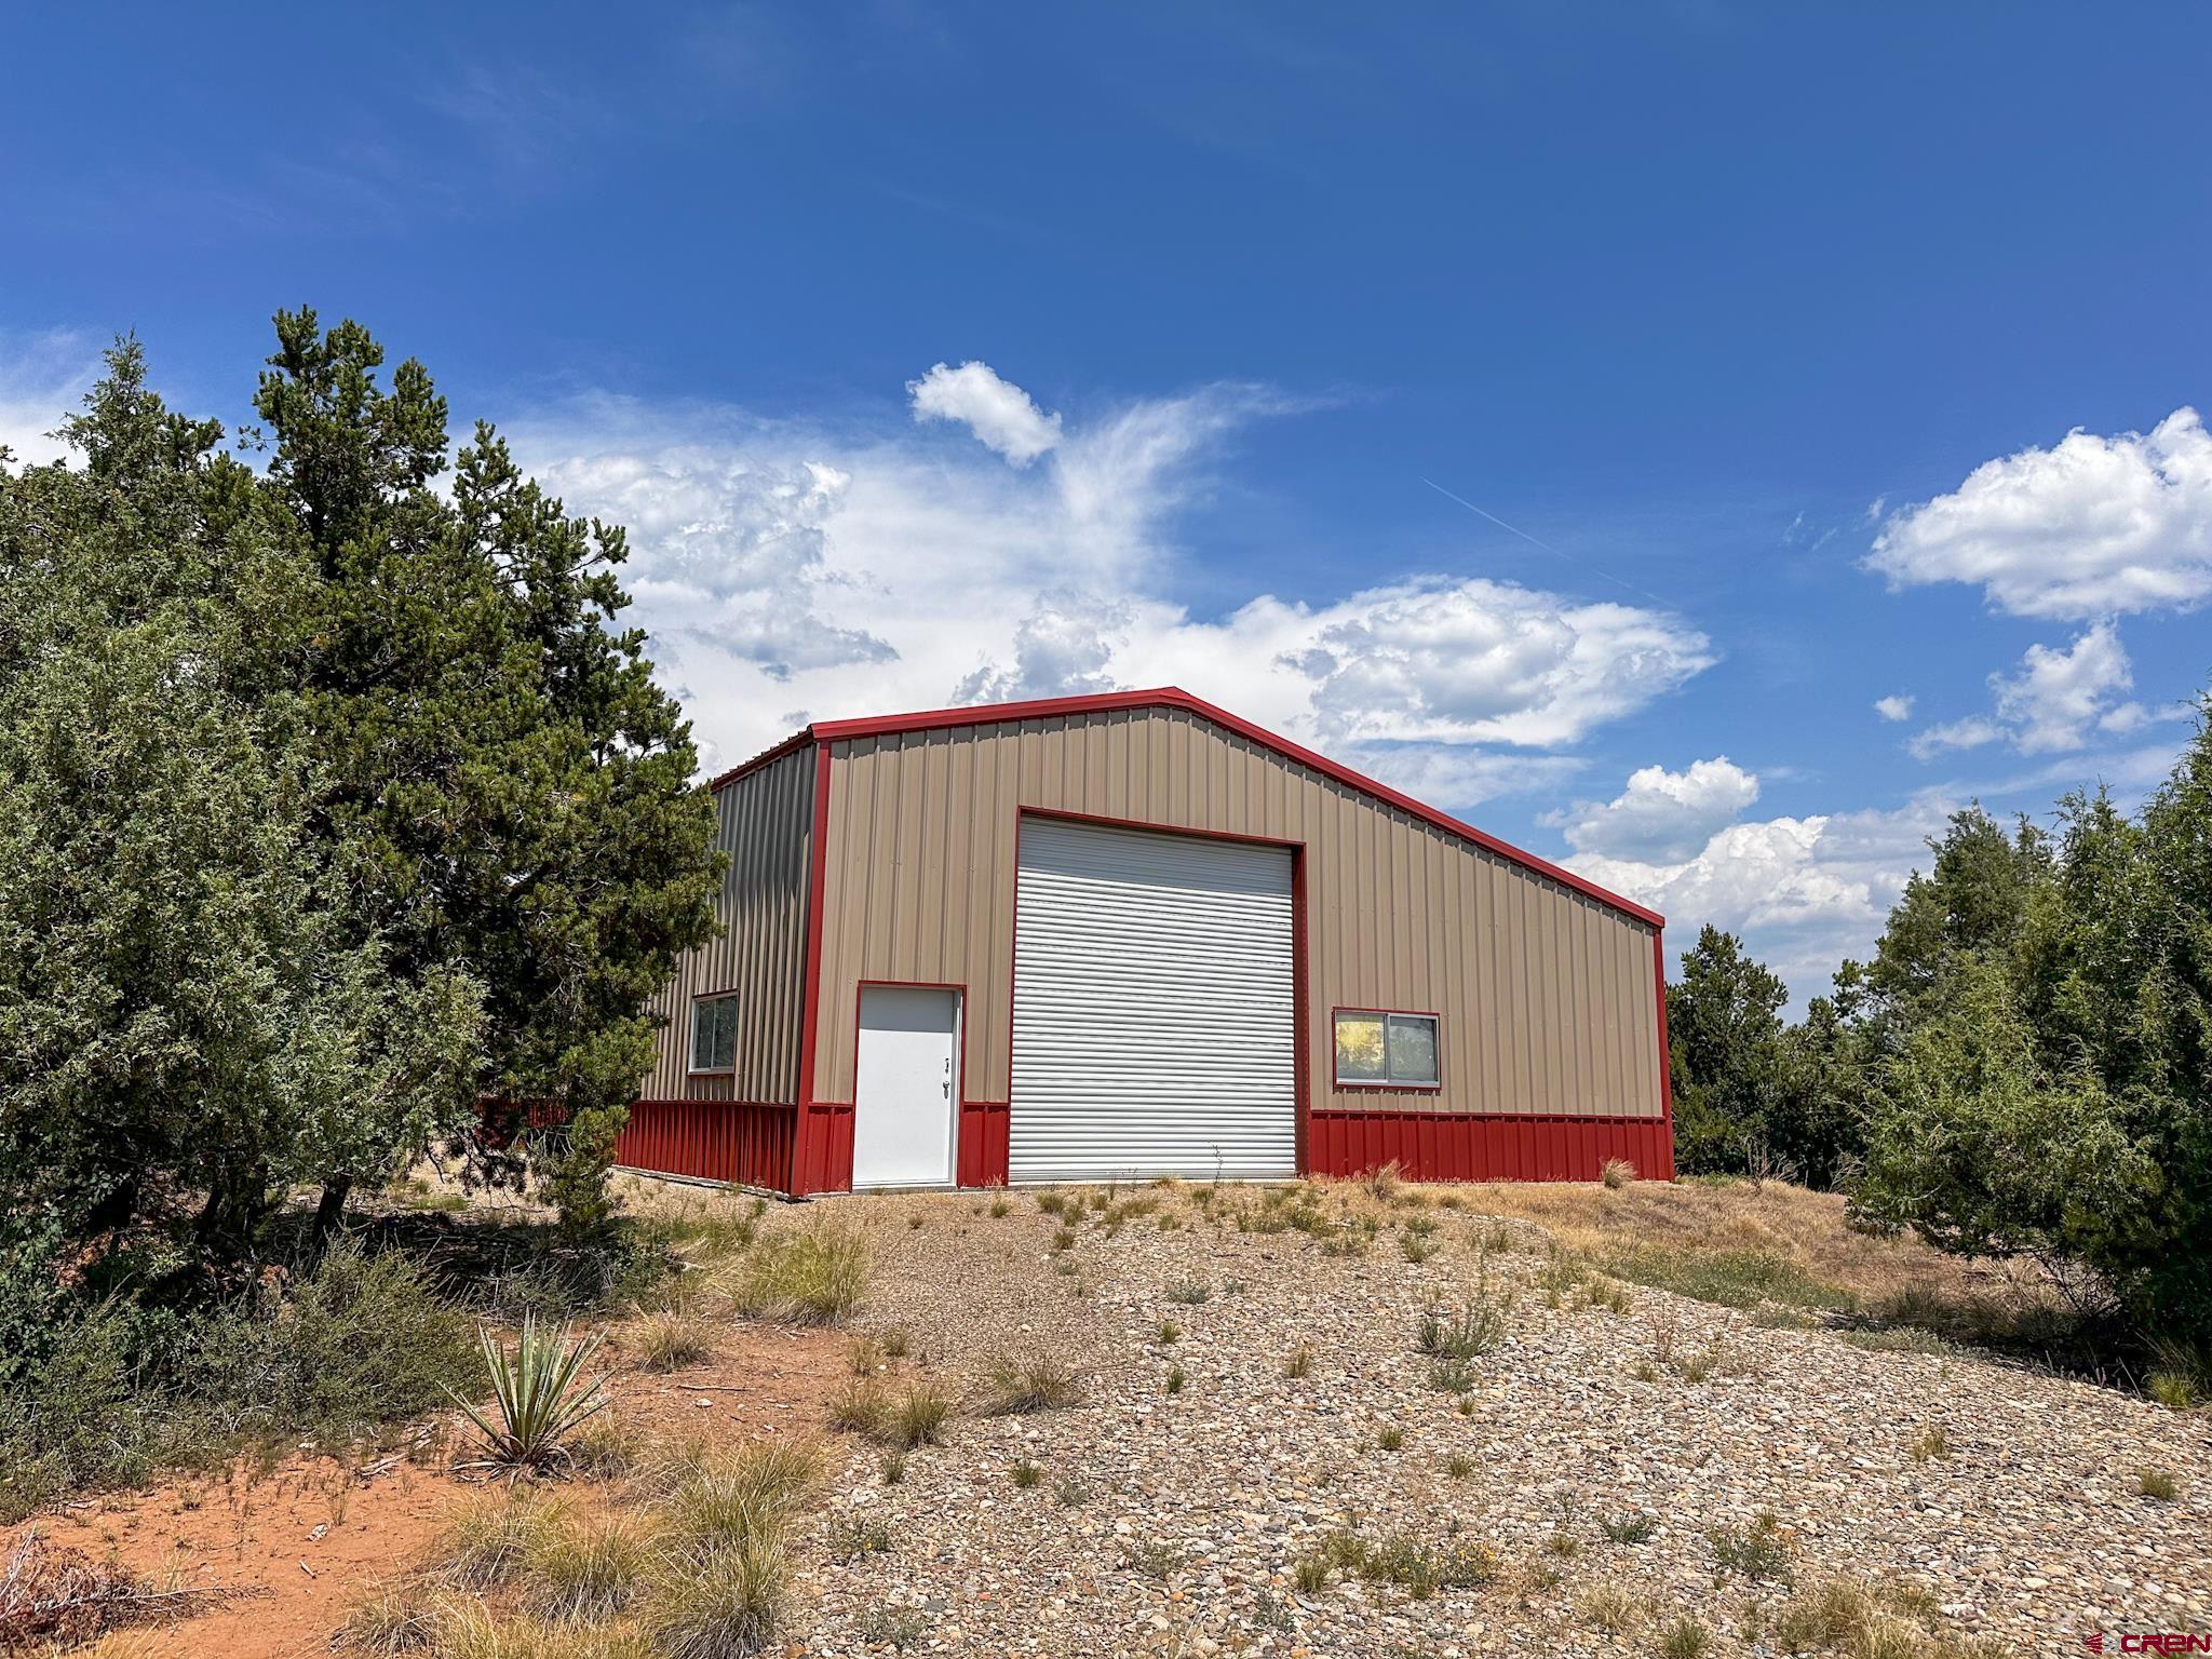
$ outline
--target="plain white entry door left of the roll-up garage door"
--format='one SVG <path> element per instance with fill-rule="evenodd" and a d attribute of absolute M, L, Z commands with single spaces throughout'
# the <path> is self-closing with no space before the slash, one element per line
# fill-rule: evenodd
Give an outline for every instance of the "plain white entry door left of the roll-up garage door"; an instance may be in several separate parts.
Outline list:
<path fill-rule="evenodd" d="M 852 1183 L 949 1186 L 960 1110 L 960 993 L 860 987 Z"/>

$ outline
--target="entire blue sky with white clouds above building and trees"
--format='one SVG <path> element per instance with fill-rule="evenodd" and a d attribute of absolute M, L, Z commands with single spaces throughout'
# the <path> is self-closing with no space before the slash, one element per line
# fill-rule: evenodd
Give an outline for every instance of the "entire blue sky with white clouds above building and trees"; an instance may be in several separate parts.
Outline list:
<path fill-rule="evenodd" d="M 117 330 L 237 418 L 274 307 L 358 316 L 633 524 L 714 763 L 1177 681 L 1803 998 L 1951 805 L 2132 801 L 2212 677 L 2201 7 L 49 7 L 11 58 L 0 440 Z"/>

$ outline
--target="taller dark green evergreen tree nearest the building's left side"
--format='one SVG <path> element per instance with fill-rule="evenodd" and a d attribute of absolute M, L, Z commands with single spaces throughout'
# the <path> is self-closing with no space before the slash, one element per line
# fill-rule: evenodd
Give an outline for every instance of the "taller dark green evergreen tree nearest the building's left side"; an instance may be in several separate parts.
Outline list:
<path fill-rule="evenodd" d="M 447 409 L 356 323 L 276 316 L 257 409 L 270 489 L 323 580 L 307 719 L 354 929 L 403 978 L 484 991 L 482 1091 L 518 1139 L 458 1146 L 487 1179 L 535 1166 L 564 1217 L 604 1172 L 653 1062 L 646 1002 L 712 931 L 714 805 L 615 580 L 619 526 L 573 520 L 484 425 L 451 500 Z M 356 1170 L 332 1170 L 343 1201 Z"/>

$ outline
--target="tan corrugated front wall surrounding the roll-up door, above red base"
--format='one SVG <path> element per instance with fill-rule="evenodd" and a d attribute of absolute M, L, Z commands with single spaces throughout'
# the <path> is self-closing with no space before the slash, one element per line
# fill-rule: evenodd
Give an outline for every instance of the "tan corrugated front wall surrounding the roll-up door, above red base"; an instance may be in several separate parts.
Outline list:
<path fill-rule="evenodd" d="M 816 1099 L 858 980 L 964 984 L 967 1097 L 1006 1099 L 1015 812 L 1305 845 L 1314 1110 L 1659 1117 L 1652 931 L 1183 710 L 832 743 Z M 1442 1013 L 1442 1088 L 1334 1086 L 1329 1011 Z"/>

